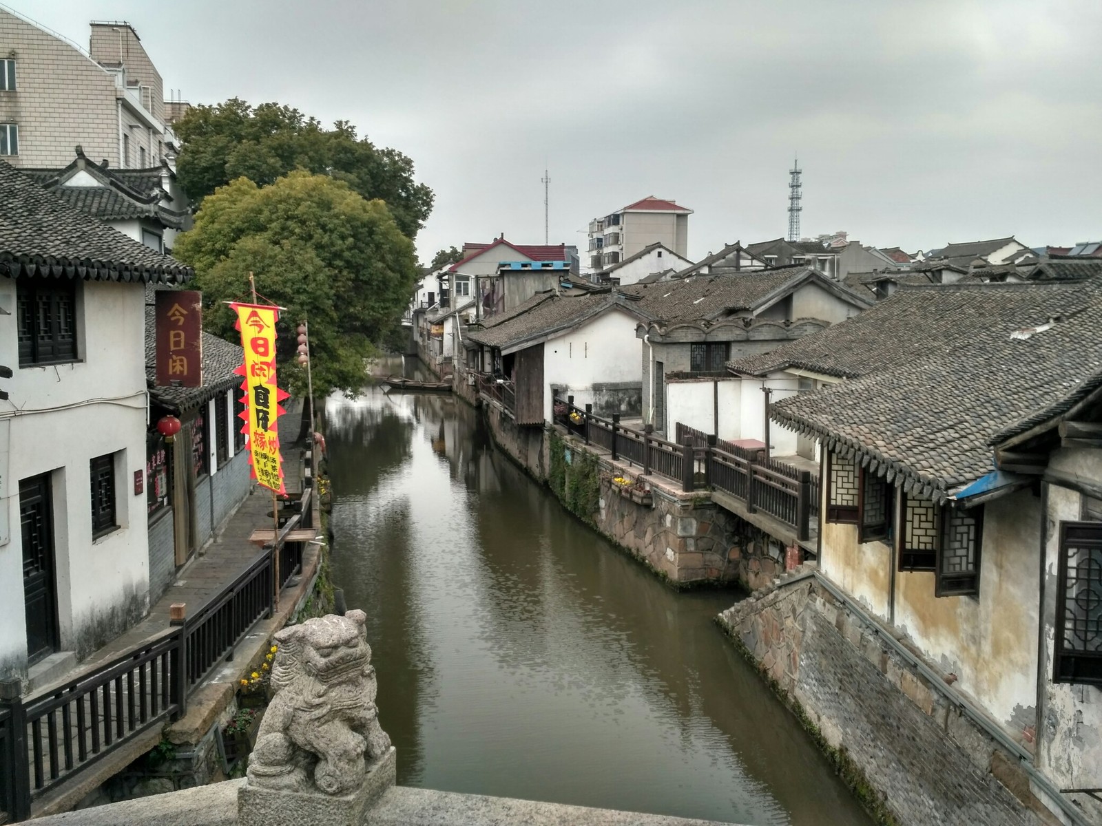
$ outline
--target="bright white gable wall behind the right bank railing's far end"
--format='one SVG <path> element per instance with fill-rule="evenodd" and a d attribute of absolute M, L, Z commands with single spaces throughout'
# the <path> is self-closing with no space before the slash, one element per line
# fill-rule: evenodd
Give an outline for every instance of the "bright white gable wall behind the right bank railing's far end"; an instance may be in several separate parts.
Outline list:
<path fill-rule="evenodd" d="M 594 382 L 642 381 L 637 320 L 611 309 L 543 344 L 543 417 L 551 421 L 551 384 L 568 388 L 579 406 L 593 403 Z"/>

